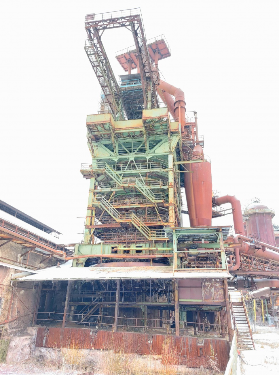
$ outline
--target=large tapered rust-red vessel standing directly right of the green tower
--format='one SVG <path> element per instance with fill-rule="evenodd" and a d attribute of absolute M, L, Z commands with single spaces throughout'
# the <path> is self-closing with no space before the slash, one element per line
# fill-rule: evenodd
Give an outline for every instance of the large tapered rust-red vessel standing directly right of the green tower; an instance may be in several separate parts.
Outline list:
<path fill-rule="evenodd" d="M 192 159 L 204 159 L 200 145 L 194 147 Z M 184 173 L 184 186 L 190 226 L 211 226 L 212 177 L 209 162 L 188 164 Z"/>

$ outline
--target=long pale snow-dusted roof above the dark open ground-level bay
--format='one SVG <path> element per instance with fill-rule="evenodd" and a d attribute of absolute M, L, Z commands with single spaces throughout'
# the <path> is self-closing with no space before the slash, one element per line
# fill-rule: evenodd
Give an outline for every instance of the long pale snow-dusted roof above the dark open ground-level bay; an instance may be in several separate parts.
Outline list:
<path fill-rule="evenodd" d="M 64 267 L 41 270 L 18 281 L 103 280 L 103 279 L 192 279 L 231 278 L 227 272 L 215 270 L 181 270 L 173 276 L 173 267 Z"/>

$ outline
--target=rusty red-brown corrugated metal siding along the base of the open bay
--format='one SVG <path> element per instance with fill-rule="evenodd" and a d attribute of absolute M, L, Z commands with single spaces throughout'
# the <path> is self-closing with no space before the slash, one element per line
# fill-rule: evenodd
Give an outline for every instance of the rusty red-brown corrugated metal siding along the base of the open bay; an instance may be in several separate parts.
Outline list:
<path fill-rule="evenodd" d="M 134 332 L 98 331 L 84 328 L 39 327 L 36 347 L 75 349 L 114 349 L 126 353 L 158 354 L 162 360 L 167 356 L 163 350 L 166 335 L 147 335 Z M 152 341 L 152 342 L 151 342 Z M 224 339 L 199 339 L 171 336 L 172 347 L 178 353 L 177 363 L 188 367 L 209 366 L 211 348 L 217 356 L 219 368 L 224 371 L 228 363 L 229 343 Z M 200 345 L 199 345 L 200 344 Z M 211 346 L 211 348 L 210 348 Z"/>

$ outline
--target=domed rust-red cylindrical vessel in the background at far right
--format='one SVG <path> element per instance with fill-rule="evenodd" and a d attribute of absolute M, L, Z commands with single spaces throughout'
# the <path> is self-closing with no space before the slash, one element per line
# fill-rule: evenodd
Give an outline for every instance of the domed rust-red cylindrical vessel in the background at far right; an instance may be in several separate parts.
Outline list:
<path fill-rule="evenodd" d="M 245 208 L 244 216 L 248 236 L 258 237 L 264 242 L 276 246 L 272 226 L 275 212 L 271 208 L 263 204 L 252 203 Z"/>

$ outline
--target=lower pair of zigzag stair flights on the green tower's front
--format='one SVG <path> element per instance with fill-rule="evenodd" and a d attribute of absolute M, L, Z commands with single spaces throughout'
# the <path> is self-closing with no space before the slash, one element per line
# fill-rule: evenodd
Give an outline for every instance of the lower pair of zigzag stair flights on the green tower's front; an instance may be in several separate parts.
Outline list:
<path fill-rule="evenodd" d="M 163 236 L 164 231 L 161 231 L 161 229 L 149 229 L 148 226 L 146 226 L 145 223 L 133 212 L 121 214 L 106 198 L 104 198 L 103 195 L 97 195 L 95 201 L 92 202 L 92 205 L 101 206 L 118 223 L 132 223 L 137 228 L 137 230 L 139 230 L 148 240 L 166 240 L 166 237 Z"/>

